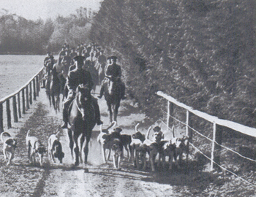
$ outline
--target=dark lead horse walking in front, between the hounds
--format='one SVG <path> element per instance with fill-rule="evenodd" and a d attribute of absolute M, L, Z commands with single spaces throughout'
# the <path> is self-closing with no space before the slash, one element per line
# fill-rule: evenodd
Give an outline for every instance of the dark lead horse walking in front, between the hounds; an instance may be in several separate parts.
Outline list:
<path fill-rule="evenodd" d="M 84 87 L 83 85 L 78 85 L 75 99 L 72 101 L 72 104 L 69 107 L 69 147 L 72 157 L 73 151 L 75 152 L 75 166 L 79 165 L 79 157 L 80 163 L 83 163 L 81 149 L 85 139 L 86 145 L 83 152 L 84 163 L 87 163 L 91 131 L 96 124 L 94 105 L 91 99 L 92 97 L 89 88 Z M 78 144 L 78 137 L 80 137 L 80 147 Z"/>

